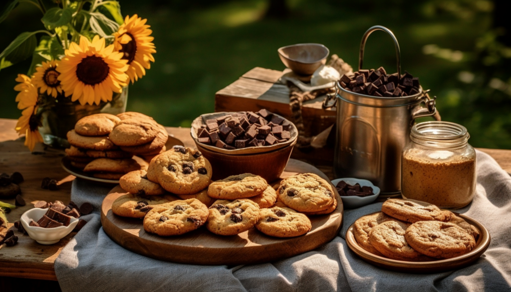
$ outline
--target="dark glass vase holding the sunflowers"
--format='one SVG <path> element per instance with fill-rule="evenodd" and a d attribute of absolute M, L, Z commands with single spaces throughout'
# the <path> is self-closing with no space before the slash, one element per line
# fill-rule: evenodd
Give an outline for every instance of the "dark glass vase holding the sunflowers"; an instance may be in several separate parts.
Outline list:
<path fill-rule="evenodd" d="M 39 106 L 37 115 L 41 117 L 39 132 L 44 144 L 68 148 L 67 132 L 74 129 L 81 118 L 99 113 L 117 115 L 126 111 L 128 86 L 123 87 L 122 93 L 114 93 L 111 101 L 102 101 L 98 105 L 81 105 L 78 101 L 72 102 L 71 97 L 62 95 L 57 98 L 44 96 L 42 99 L 44 102 Z"/>

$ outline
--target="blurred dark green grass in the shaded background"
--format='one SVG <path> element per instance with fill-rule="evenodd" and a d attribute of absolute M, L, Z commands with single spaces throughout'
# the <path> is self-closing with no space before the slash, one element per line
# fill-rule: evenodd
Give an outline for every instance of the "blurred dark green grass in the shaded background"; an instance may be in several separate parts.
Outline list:
<path fill-rule="evenodd" d="M 157 53 L 156 62 L 147 75 L 130 85 L 128 110 L 153 116 L 167 126 L 190 126 L 200 114 L 214 110 L 215 93 L 234 82 L 255 66 L 283 70 L 276 49 L 292 43 L 318 42 L 356 69 L 363 33 L 373 25 L 391 29 L 400 41 L 401 66 L 438 97 L 437 105 L 445 120 L 458 119 L 463 108 L 457 74 L 467 63 L 425 55 L 423 47 L 471 51 L 475 39 L 489 27 L 488 13 L 472 18 L 431 15 L 426 4 L 402 4 L 390 1 L 379 4 L 361 1 L 360 6 L 341 6 L 334 1 L 291 1 L 291 17 L 284 20 L 262 19 L 266 2 L 259 0 L 224 2 L 203 9 L 176 11 L 166 6 L 141 5 L 139 1 L 122 1 L 123 14 L 138 13 L 152 26 Z M 5 48 L 17 33 L 41 27 L 38 11 L 17 8 L 0 24 L 0 48 Z M 363 9 L 362 9 L 363 6 Z M 405 9 L 406 7 L 406 9 Z M 30 21 L 23 21 L 26 15 Z M 17 27 L 22 26 L 23 29 Z M 449 52 L 439 53 L 445 57 Z M 367 41 L 364 66 L 384 66 L 393 72 L 396 57 L 392 40 L 383 32 L 371 34 Z M 438 54 L 437 54 L 438 55 Z M 16 74 L 25 73 L 30 61 L 0 71 L 0 117 L 18 118 L 14 102 Z M 511 136 L 502 126 L 478 124 L 492 113 L 481 113 L 466 126 L 472 134 L 471 144 L 478 147 L 511 148 Z"/>

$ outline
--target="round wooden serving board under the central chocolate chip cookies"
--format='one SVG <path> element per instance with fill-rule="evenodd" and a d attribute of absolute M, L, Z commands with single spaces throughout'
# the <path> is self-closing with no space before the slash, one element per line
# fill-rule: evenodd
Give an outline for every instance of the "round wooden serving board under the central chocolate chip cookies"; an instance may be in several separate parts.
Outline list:
<path fill-rule="evenodd" d="M 290 159 L 281 178 L 297 173 L 315 173 L 330 182 L 314 166 Z M 275 185 L 277 182 L 272 182 Z M 329 215 L 310 216 L 312 229 L 305 235 L 291 238 L 266 236 L 255 228 L 233 236 L 213 234 L 202 226 L 193 232 L 170 237 L 146 233 L 140 219 L 114 215 L 112 203 L 126 194 L 113 188 L 103 200 L 101 223 L 106 234 L 119 245 L 143 256 L 178 263 L 201 265 L 239 265 L 275 261 L 316 249 L 339 233 L 342 223 L 342 201 L 333 187 L 337 209 Z"/>

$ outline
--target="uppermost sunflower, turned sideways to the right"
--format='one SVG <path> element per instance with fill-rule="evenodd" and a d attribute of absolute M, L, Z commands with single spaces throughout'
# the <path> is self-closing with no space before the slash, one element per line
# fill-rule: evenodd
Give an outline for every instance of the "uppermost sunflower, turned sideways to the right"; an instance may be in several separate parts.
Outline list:
<path fill-rule="evenodd" d="M 124 24 L 113 34 L 115 40 L 113 44 L 115 50 L 123 53 L 123 59 L 128 60 L 128 74 L 131 83 L 146 75 L 146 69 L 151 68 L 151 62 L 154 62 L 153 53 L 156 53 L 154 37 L 151 36 L 152 30 L 146 25 L 147 19 L 142 19 L 138 15 L 126 16 Z"/>

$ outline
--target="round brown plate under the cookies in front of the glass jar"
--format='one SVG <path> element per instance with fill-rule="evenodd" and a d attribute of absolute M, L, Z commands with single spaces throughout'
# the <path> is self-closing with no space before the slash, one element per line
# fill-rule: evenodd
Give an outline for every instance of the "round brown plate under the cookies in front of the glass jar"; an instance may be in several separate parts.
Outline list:
<path fill-rule="evenodd" d="M 364 261 L 392 271 L 413 274 L 433 274 L 452 271 L 453 269 L 459 269 L 470 265 L 486 251 L 488 246 L 490 246 L 490 233 L 486 230 L 486 228 L 484 228 L 484 226 L 482 226 L 481 223 L 463 214 L 458 214 L 456 212 L 453 213 L 465 219 L 465 221 L 472 224 L 477 228 L 477 230 L 479 230 L 479 238 L 477 239 L 475 249 L 462 256 L 429 262 L 398 261 L 380 257 L 367 252 L 358 245 L 353 232 L 355 223 L 353 223 L 346 231 L 346 242 L 350 249 Z"/>

